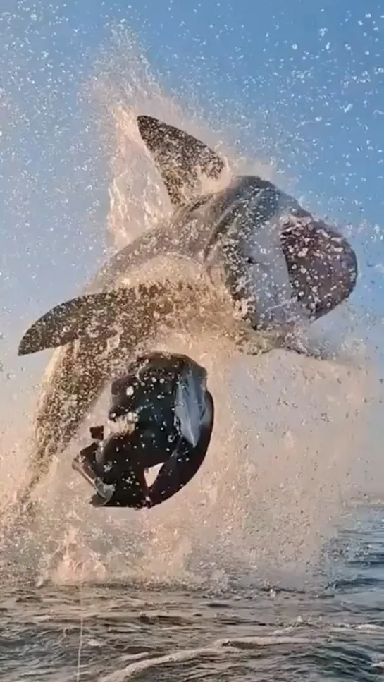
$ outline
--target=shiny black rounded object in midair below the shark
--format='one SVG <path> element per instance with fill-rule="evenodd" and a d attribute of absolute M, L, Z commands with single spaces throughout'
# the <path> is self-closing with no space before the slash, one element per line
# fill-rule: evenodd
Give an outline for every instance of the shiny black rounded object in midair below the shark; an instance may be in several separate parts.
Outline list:
<path fill-rule="evenodd" d="M 112 384 L 109 420 L 82 450 L 73 468 L 94 486 L 94 506 L 135 509 L 161 504 L 184 487 L 206 456 L 213 429 L 213 398 L 206 370 L 185 355 L 151 353 Z M 162 464 L 151 486 L 145 470 Z"/>

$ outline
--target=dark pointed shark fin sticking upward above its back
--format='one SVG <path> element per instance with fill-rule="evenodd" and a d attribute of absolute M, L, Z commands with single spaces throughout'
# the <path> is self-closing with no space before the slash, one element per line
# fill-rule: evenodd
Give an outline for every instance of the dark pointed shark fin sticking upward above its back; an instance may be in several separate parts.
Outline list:
<path fill-rule="evenodd" d="M 179 206 L 200 190 L 202 178 L 218 180 L 225 164 L 209 147 L 151 116 L 138 116 L 143 142 L 154 157 L 171 202 Z"/>

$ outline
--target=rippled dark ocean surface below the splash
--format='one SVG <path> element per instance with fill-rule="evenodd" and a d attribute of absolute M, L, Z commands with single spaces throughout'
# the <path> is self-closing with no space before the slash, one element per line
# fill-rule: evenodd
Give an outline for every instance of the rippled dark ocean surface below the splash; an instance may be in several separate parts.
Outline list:
<path fill-rule="evenodd" d="M 384 507 L 323 548 L 317 587 L 1 580 L 2 682 L 373 681 L 384 674 Z M 326 567 L 326 568 L 325 568 Z"/>

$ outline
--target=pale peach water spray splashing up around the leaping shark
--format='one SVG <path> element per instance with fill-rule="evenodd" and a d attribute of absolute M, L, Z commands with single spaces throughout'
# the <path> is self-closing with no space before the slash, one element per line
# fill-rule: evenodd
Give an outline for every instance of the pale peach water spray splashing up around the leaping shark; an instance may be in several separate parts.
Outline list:
<path fill-rule="evenodd" d="M 233 169 L 238 162 L 209 125 L 167 97 L 130 37 L 116 33 L 114 41 L 92 87 L 111 156 L 107 224 L 116 250 L 170 211 L 139 139 L 137 114 L 163 118 L 220 148 Z M 266 166 L 252 171 L 267 174 Z M 233 576 L 249 574 L 262 582 L 282 573 L 302 579 L 332 521 L 376 470 L 366 445 L 374 372 L 284 351 L 247 358 L 208 329 L 173 331 L 156 348 L 188 353 L 209 372 L 216 425 L 202 470 L 148 513 L 93 509 L 87 484 L 70 469 L 87 438 L 85 425 L 51 468 L 32 527 L 21 528 L 17 542 L 6 540 L 4 571 L 12 573 L 12 561 L 20 565 L 21 556 L 28 576 L 33 569 L 39 579 L 58 582 L 87 576 L 225 585 Z M 104 420 L 107 400 L 105 394 L 89 423 Z M 19 473 L 27 457 L 23 430 L 17 430 L 20 442 L 13 451 L 10 434 L 1 444 L 4 528 L 9 492 L 18 485 L 14 463 Z"/>

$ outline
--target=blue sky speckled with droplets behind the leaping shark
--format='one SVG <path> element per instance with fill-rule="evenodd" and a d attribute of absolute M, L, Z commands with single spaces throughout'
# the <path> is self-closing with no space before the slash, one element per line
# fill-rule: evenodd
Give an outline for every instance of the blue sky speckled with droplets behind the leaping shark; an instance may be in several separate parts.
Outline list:
<path fill-rule="evenodd" d="M 248 157 L 273 158 L 306 206 L 352 224 L 364 269 L 357 303 L 383 315 L 383 3 L 2 0 L 6 363 L 17 334 L 73 295 L 101 254 L 106 159 L 79 93 L 116 22 L 137 33 L 181 103 L 193 95 Z"/>

